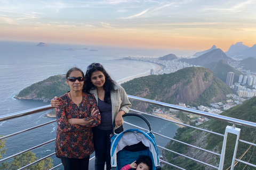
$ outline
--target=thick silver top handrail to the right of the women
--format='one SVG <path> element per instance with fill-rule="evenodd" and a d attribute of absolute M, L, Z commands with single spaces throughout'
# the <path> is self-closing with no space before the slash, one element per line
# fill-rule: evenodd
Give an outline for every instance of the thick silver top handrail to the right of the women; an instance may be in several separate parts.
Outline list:
<path fill-rule="evenodd" d="M 244 125 L 244 126 L 248 126 L 250 128 L 255 128 L 256 129 L 256 123 L 254 123 L 254 122 L 239 120 L 237 118 L 223 116 L 223 115 L 217 115 L 217 114 L 213 114 L 213 113 L 202 112 L 202 111 L 198 111 L 198 110 L 195 110 L 195 109 L 190 109 L 190 108 L 186 108 L 186 107 L 171 105 L 171 104 L 163 103 L 161 101 L 145 99 L 145 98 L 141 98 L 141 97 L 137 97 L 137 96 L 131 96 L 131 95 L 127 95 L 127 96 L 128 96 L 129 99 L 143 101 L 143 102 L 150 103 L 150 104 L 156 104 L 156 105 L 163 106 L 163 107 L 169 107 L 169 108 L 173 108 L 173 109 L 176 109 L 176 110 L 179 110 L 179 111 L 189 112 L 189 113 L 193 113 L 193 114 L 200 115 L 200 116 L 205 116 L 205 117 L 210 117 L 210 118 L 215 118 L 217 120 L 226 121 L 226 122 L 234 123 L 234 124 L 237 124 L 237 125 Z"/>

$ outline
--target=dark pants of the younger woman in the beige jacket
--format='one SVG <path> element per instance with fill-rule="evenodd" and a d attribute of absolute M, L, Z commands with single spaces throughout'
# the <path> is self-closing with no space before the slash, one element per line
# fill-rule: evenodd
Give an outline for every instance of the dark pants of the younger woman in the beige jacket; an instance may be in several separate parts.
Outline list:
<path fill-rule="evenodd" d="M 106 170 L 111 169 L 111 156 L 110 156 L 110 134 L 112 130 L 101 130 L 93 128 L 93 142 L 95 149 L 95 170 L 103 170 L 105 162 L 107 165 Z"/>

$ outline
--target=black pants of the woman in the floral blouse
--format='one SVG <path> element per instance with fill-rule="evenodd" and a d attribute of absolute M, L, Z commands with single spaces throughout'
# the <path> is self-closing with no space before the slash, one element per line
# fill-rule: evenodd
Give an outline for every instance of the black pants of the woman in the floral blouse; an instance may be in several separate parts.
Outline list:
<path fill-rule="evenodd" d="M 60 157 L 65 170 L 89 170 L 90 156 L 83 159 Z"/>

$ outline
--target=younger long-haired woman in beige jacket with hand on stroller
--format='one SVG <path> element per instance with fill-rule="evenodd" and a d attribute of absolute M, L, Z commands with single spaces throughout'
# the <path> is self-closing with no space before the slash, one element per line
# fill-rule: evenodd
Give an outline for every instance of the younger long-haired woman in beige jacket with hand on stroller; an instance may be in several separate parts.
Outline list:
<path fill-rule="evenodd" d="M 93 141 L 95 149 L 95 170 L 111 169 L 110 139 L 112 124 L 116 128 L 123 125 L 123 115 L 129 112 L 131 103 L 124 88 L 113 81 L 100 63 L 87 66 L 83 91 L 93 94 L 97 100 L 101 114 L 101 123 L 93 128 Z M 51 100 L 51 105 L 59 105 L 58 100 Z M 122 127 L 119 128 L 122 131 Z M 118 130 L 118 129 L 117 129 Z"/>

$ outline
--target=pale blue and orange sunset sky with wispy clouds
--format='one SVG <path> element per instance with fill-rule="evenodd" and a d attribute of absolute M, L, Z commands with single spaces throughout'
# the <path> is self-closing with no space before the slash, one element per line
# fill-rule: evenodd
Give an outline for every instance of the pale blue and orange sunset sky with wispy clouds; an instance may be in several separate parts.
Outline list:
<path fill-rule="evenodd" d="M 256 1 L 0 0 L 0 40 L 224 52 L 256 44 Z"/>

